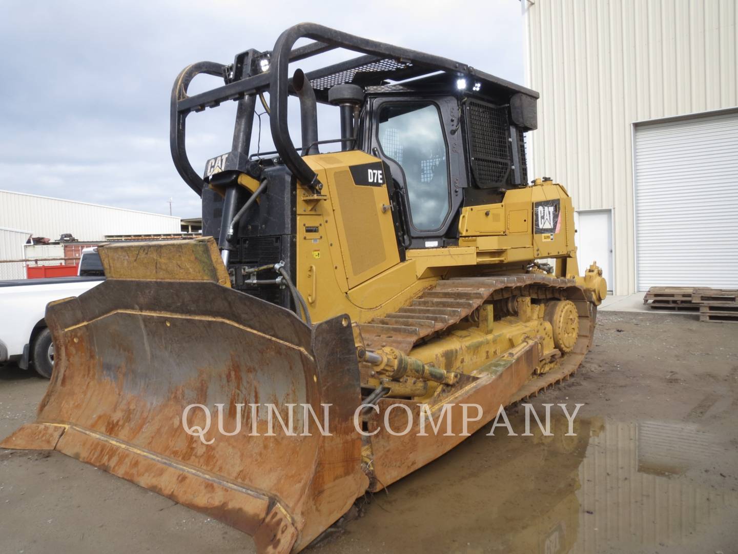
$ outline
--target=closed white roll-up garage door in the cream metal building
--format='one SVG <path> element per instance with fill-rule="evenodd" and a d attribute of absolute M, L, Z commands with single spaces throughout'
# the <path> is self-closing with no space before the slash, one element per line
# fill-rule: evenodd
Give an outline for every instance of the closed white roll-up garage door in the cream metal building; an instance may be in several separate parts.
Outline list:
<path fill-rule="evenodd" d="M 635 126 L 638 290 L 738 288 L 738 113 Z"/>

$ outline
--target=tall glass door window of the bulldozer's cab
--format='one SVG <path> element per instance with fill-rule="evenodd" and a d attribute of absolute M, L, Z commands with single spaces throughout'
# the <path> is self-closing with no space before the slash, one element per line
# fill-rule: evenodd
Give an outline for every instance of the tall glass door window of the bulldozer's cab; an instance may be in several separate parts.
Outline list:
<path fill-rule="evenodd" d="M 438 108 L 432 103 L 382 106 L 379 144 L 404 172 L 413 227 L 441 228 L 449 213 L 449 172 Z"/>

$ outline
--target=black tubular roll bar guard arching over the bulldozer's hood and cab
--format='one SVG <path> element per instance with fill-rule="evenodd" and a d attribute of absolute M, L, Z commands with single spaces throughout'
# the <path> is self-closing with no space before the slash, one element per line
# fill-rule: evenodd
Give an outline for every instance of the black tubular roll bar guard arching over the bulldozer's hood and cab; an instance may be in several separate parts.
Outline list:
<path fill-rule="evenodd" d="M 311 38 L 314 42 L 293 49 L 295 42 L 300 40 L 300 38 Z M 187 160 L 187 153 L 184 149 L 184 120 L 187 114 L 190 112 L 201 112 L 206 108 L 213 108 L 226 100 L 242 100 L 248 95 L 269 91 L 269 109 L 271 112 L 269 119 L 272 139 L 274 140 L 278 154 L 283 160 L 283 163 L 285 163 L 294 177 L 297 177 L 300 182 L 320 188 L 317 175 L 300 157 L 300 153 L 294 148 L 292 139 L 289 136 L 287 98 L 291 93 L 294 94 L 294 91 L 292 90 L 292 81 L 289 78 L 288 72 L 290 62 L 302 60 L 335 48 L 353 50 L 354 52 L 361 52 L 364 55 L 353 60 L 343 61 L 308 72 L 306 78 L 309 81 L 315 82 L 317 79 L 335 77 L 345 72 L 356 72 L 368 64 L 380 63 L 383 60 L 394 60 L 407 66 L 412 66 L 415 70 L 415 76 L 427 75 L 436 71 L 450 72 L 460 77 L 466 75 L 474 78 L 475 81 L 486 83 L 486 86 L 497 91 L 504 91 L 509 96 L 522 95 L 532 101 L 533 105 L 538 98 L 538 93 L 534 90 L 511 83 L 505 79 L 494 77 L 494 75 L 477 71 L 472 66 L 461 64 L 458 61 L 418 52 L 409 48 L 396 47 L 384 42 L 372 41 L 368 38 L 343 33 L 329 27 L 324 27 L 323 25 L 314 23 L 297 24 L 284 31 L 277 38 L 272 52 L 249 51 L 255 52 L 261 59 L 269 59 L 269 69 L 266 72 L 252 75 L 248 73 L 246 75 L 235 75 L 237 72 L 235 70 L 232 71 L 232 68 L 238 66 L 239 56 L 241 56 L 239 55 L 236 56 L 237 63 L 233 66 L 204 61 L 199 64 L 187 66 L 179 74 L 172 89 L 170 148 L 174 165 L 182 176 L 182 179 L 187 182 L 187 185 L 190 185 L 190 188 L 198 194 L 202 193 L 202 189 L 205 186 L 204 180 L 194 171 L 189 160 Z M 376 75 L 379 75 L 378 78 L 381 82 L 385 78 L 384 75 L 392 71 L 388 70 L 385 73 L 376 71 Z M 396 70 L 394 75 L 399 77 L 402 71 L 407 75 L 407 69 Z M 219 86 L 216 89 L 202 92 L 198 95 L 187 96 L 187 86 L 189 86 L 196 75 L 201 73 L 223 76 L 225 81 L 224 86 Z M 358 74 L 354 73 L 351 75 Z M 362 75 L 366 74 L 362 73 Z M 317 89 L 316 92 L 318 92 Z M 322 90 L 320 91 L 319 100 L 325 101 Z M 535 114 L 533 112 L 532 124 L 534 124 L 534 118 Z M 238 122 L 236 125 L 238 126 Z M 534 129 L 534 126 L 528 126 L 528 129 Z"/>

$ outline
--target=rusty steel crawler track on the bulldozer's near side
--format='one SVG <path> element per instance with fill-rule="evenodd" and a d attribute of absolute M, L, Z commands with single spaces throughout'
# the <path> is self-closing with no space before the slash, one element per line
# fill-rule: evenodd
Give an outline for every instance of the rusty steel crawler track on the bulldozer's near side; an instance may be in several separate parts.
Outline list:
<path fill-rule="evenodd" d="M 574 279 L 523 274 L 438 281 L 408 306 L 367 324 L 359 324 L 359 329 L 367 348 L 391 346 L 408 354 L 416 344 L 458 324 L 484 302 L 513 295 L 573 301 L 579 312 L 579 337 L 573 351 L 562 357 L 559 367 L 525 383 L 510 397 L 508 403 L 512 404 L 567 379 L 576 372 L 590 349 L 597 308 L 587 300 L 584 289 Z"/>

